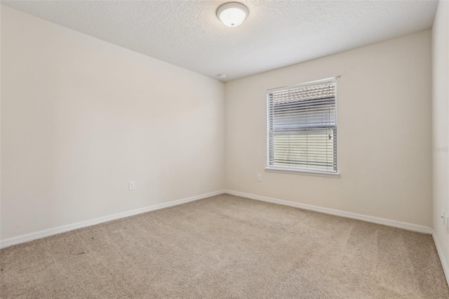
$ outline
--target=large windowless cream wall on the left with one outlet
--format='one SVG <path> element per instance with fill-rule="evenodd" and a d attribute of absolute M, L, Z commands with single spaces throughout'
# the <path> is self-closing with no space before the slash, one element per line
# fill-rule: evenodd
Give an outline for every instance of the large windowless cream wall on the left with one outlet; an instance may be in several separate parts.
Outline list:
<path fill-rule="evenodd" d="M 1 239 L 223 189 L 224 84 L 6 6 L 1 41 Z"/>

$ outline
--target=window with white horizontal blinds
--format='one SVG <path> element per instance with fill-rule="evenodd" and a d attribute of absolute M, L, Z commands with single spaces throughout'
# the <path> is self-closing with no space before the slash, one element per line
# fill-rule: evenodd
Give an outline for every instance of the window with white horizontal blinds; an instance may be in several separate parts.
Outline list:
<path fill-rule="evenodd" d="M 337 173 L 335 78 L 267 91 L 267 169 Z"/>

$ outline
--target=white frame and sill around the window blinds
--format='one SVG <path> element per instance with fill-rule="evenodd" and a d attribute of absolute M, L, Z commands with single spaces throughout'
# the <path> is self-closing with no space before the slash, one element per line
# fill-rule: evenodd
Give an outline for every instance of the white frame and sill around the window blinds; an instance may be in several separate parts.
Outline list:
<path fill-rule="evenodd" d="M 320 84 L 326 84 L 327 82 L 333 82 L 335 84 L 335 135 L 337 133 L 337 77 L 317 80 L 317 81 L 310 81 L 303 84 L 295 84 L 292 86 L 283 86 L 279 88 L 273 88 L 269 89 L 267 91 L 267 166 L 265 168 L 265 171 L 267 172 L 276 172 L 276 173 L 292 173 L 292 174 L 300 174 L 300 175 L 317 175 L 317 176 L 324 176 L 324 177 L 331 177 L 331 178 L 338 178 L 340 177 L 340 173 L 337 171 L 337 140 L 334 141 L 334 148 L 333 151 L 335 153 L 335 168 L 330 169 L 312 169 L 312 168 L 304 168 L 304 167 L 283 167 L 283 166 L 275 166 L 270 165 L 270 162 L 272 162 L 272 159 L 270 159 L 270 149 L 272 148 L 270 144 L 270 126 L 272 123 L 270 122 L 270 115 L 269 115 L 269 94 L 279 91 L 288 91 L 290 89 L 299 89 L 299 88 L 305 88 L 307 86 L 314 86 L 314 85 L 320 85 Z M 274 147 L 274 145 L 273 145 Z M 274 163 L 274 162 L 272 162 Z"/>

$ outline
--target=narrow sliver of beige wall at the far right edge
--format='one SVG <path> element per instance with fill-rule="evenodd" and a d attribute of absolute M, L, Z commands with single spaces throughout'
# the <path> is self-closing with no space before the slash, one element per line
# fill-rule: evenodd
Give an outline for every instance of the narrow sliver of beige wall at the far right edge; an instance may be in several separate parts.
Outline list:
<path fill-rule="evenodd" d="M 449 263 L 449 234 L 441 213 L 449 213 L 449 159 L 441 148 L 449 146 L 449 2 L 440 1 L 432 28 L 432 146 L 434 180 L 434 237 Z M 446 265 L 448 269 L 449 265 Z M 449 273 L 446 273 L 449 279 Z"/>

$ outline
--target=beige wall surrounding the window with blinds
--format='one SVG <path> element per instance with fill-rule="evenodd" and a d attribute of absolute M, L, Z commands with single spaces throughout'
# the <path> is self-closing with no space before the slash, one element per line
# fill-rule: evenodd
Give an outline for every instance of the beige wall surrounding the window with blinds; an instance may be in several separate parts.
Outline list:
<path fill-rule="evenodd" d="M 264 172 L 267 89 L 337 75 L 341 177 Z M 430 30 L 231 81 L 227 189 L 430 227 L 430 98 Z"/>

